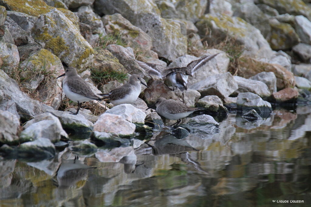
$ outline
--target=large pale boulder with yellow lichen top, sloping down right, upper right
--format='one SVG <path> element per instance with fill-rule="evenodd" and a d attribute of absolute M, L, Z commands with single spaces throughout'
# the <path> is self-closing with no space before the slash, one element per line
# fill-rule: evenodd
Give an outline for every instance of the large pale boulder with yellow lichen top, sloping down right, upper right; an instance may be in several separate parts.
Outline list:
<path fill-rule="evenodd" d="M 260 31 L 239 17 L 206 14 L 196 26 L 203 40 L 207 40 L 210 45 L 219 43 L 229 36 L 236 38 L 237 43 L 248 48 L 243 51 L 245 55 L 270 59 L 274 54 Z"/>

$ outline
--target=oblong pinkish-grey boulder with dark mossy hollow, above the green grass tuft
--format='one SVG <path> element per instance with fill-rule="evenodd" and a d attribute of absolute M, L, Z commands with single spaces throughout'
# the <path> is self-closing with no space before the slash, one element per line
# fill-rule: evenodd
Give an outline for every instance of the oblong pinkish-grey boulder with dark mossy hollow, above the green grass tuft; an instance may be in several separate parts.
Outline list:
<path fill-rule="evenodd" d="M 152 41 L 142 29 L 131 24 L 121 14 L 105 15 L 102 17 L 107 34 L 119 35 L 131 47 L 146 51 L 152 47 Z"/>

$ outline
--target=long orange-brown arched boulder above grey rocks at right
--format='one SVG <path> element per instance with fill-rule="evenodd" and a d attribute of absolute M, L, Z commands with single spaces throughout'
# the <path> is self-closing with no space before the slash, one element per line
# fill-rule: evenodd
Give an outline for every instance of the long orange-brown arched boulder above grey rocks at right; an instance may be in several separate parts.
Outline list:
<path fill-rule="evenodd" d="M 295 86 L 293 73 L 281 65 L 262 62 L 251 57 L 240 57 L 237 75 L 250 78 L 261 72 L 273 72 L 276 76 L 276 87 L 278 90 Z"/>

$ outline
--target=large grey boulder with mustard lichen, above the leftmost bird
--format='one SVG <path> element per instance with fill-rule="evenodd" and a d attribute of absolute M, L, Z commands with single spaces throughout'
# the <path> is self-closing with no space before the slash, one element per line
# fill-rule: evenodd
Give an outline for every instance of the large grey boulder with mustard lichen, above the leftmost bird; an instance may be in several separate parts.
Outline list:
<path fill-rule="evenodd" d="M 64 29 L 66 32 L 63 32 Z M 92 64 L 94 51 L 91 45 L 63 12 L 53 9 L 40 15 L 32 32 L 37 43 L 53 52 L 68 66 L 81 69 Z"/>

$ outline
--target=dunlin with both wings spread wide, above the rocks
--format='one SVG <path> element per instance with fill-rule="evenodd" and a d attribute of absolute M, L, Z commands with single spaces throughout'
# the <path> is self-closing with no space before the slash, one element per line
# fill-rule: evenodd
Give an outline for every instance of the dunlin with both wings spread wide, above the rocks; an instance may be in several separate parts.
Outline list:
<path fill-rule="evenodd" d="M 136 62 L 149 75 L 157 76 L 162 80 L 168 79 L 172 83 L 173 90 L 175 87 L 177 87 L 179 90 L 183 91 L 187 90 L 188 88 L 188 75 L 193 76 L 198 69 L 200 69 L 218 54 L 219 53 L 194 60 L 186 67 L 165 68 L 162 65 L 156 65 L 142 61 Z"/>

